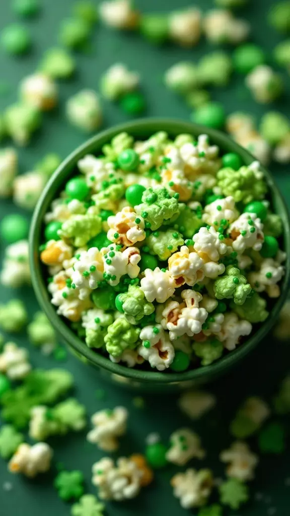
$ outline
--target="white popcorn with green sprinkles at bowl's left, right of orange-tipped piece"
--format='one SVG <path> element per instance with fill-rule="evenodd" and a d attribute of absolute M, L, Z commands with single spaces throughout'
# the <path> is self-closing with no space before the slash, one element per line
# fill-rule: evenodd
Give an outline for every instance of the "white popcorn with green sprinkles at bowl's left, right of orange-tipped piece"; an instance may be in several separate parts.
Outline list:
<path fill-rule="evenodd" d="M 98 287 L 104 273 L 103 255 L 98 247 L 90 247 L 82 251 L 74 262 L 72 283 L 79 289 L 80 299 L 89 296 L 92 289 Z"/>

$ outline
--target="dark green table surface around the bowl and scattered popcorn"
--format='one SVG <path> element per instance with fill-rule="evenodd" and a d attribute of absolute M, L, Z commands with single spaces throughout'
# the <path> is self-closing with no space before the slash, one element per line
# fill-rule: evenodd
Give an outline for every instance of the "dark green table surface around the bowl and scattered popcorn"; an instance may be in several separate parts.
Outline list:
<path fill-rule="evenodd" d="M 3 0 L 0 6 L 0 26 L 3 28 L 12 23 L 15 17 L 10 7 L 10 0 Z M 33 37 L 33 51 L 23 58 L 11 58 L 3 53 L 0 55 L 1 80 L 9 85 L 7 94 L 0 97 L 0 109 L 17 99 L 17 85 L 21 78 L 36 67 L 43 51 L 57 43 L 58 27 L 63 18 L 70 15 L 73 0 L 57 2 L 56 0 L 41 0 L 42 11 L 38 18 L 25 21 Z M 266 22 L 266 13 L 272 0 L 250 0 L 246 9 L 238 11 L 241 17 L 245 17 L 252 26 L 252 38 L 263 45 L 269 53 L 281 37 Z M 189 5 L 188 0 L 168 0 L 166 3 L 159 0 L 136 0 L 136 5 L 141 11 L 169 11 Z M 213 6 L 210 0 L 195 2 L 202 9 Z M 92 38 L 91 51 L 86 54 L 76 54 L 77 74 L 69 82 L 60 84 L 59 108 L 53 114 L 44 116 L 44 123 L 40 132 L 34 137 L 28 148 L 21 149 L 20 170 L 31 170 L 34 164 L 46 152 L 58 152 L 63 158 L 75 147 L 85 141 L 85 136 L 68 125 L 63 116 L 64 103 L 69 95 L 80 88 L 98 89 L 101 74 L 115 62 L 124 62 L 132 70 L 138 70 L 141 74 L 143 91 L 148 103 L 148 116 L 168 116 L 189 119 L 189 110 L 182 99 L 167 91 L 163 86 L 164 71 L 180 60 L 196 61 L 204 52 L 213 47 L 202 41 L 195 49 L 183 50 L 177 46 L 166 46 L 162 49 L 151 46 L 143 41 L 138 34 L 120 34 L 105 27 L 97 26 Z M 214 49 L 213 49 L 214 50 Z M 281 73 L 285 79 L 286 92 L 283 99 L 273 107 L 281 109 L 290 115 L 290 87 L 289 76 Z M 257 119 L 265 111 L 263 106 L 255 104 L 243 85 L 243 79 L 236 76 L 227 89 L 215 90 L 215 100 L 224 103 L 227 112 L 233 110 L 250 111 Z M 126 120 L 119 108 L 108 102 L 103 102 L 104 126 L 116 124 Z M 271 170 L 281 187 L 286 200 L 290 202 L 290 181 L 288 167 L 271 166 Z M 1 200 L 0 218 L 7 213 L 16 211 L 12 202 Z M 20 210 L 19 210 L 20 212 Z M 24 213 L 24 212 L 22 212 Z M 29 217 L 29 214 L 27 214 Z M 1 252 L 3 253 L 3 245 Z M 19 291 L 1 288 L 1 301 L 7 301 L 13 297 L 21 297 L 26 305 L 31 318 L 37 310 L 37 302 L 31 288 L 25 287 Z M 41 352 L 27 342 L 25 332 L 7 338 L 17 344 L 27 347 L 31 362 L 37 367 L 60 367 L 62 364 L 53 358 L 43 357 Z M 146 407 L 137 409 L 133 405 L 134 393 L 122 388 L 102 384 L 98 374 L 92 369 L 80 363 L 69 354 L 63 366 L 74 375 L 76 388 L 75 396 L 83 402 L 88 414 L 102 408 L 113 408 L 116 405 L 124 405 L 130 411 L 128 432 L 121 440 L 120 454 L 131 454 L 144 449 L 144 440 L 149 432 L 159 432 L 167 441 L 170 433 L 182 426 L 194 428 L 202 437 L 202 443 L 207 451 L 207 457 L 202 464 L 214 468 L 215 476 L 221 477 L 224 467 L 218 460 L 218 454 L 231 443 L 228 433 L 228 424 L 238 403 L 248 395 L 258 394 L 270 399 L 276 391 L 279 381 L 290 369 L 290 347 L 277 343 L 271 336 L 262 342 L 249 359 L 239 365 L 231 375 L 208 386 L 208 390 L 214 392 L 218 398 L 217 407 L 208 413 L 201 421 L 191 423 L 188 418 L 176 408 L 176 397 L 168 396 L 144 396 Z M 97 389 L 105 389 L 105 399 L 99 401 L 95 392 Z M 289 421 L 285 421 L 289 424 Z M 85 433 L 74 434 L 64 439 L 51 441 L 55 450 L 55 463 L 62 462 L 66 469 L 80 469 L 85 474 L 86 491 L 94 492 L 91 484 L 91 466 L 100 459 L 104 453 L 94 445 L 87 443 Z M 250 443 L 253 449 L 256 447 L 255 439 Z M 290 451 L 279 457 L 263 456 L 257 467 L 256 480 L 251 482 L 251 501 L 239 511 L 229 511 L 227 514 L 239 516 L 266 516 L 277 514 L 287 516 L 290 513 Z M 194 461 L 194 467 L 200 467 L 200 462 Z M 182 469 L 182 468 L 181 468 Z M 151 487 L 144 489 L 140 496 L 130 503 L 107 504 L 107 514 L 125 515 L 165 515 L 179 516 L 186 511 L 181 508 L 179 502 L 172 495 L 169 485 L 171 476 L 178 468 L 169 466 L 166 470 L 156 474 Z M 56 470 L 50 474 L 38 477 L 36 480 L 27 480 L 25 477 L 12 476 L 7 472 L 7 465 L 0 460 L 0 514 L 1 516 L 60 516 L 70 514 L 70 505 L 63 503 L 52 487 Z M 287 480 L 288 479 L 288 480 Z M 11 490 L 6 491 L 2 486 L 11 483 Z M 262 499 L 261 499 L 262 498 Z"/>

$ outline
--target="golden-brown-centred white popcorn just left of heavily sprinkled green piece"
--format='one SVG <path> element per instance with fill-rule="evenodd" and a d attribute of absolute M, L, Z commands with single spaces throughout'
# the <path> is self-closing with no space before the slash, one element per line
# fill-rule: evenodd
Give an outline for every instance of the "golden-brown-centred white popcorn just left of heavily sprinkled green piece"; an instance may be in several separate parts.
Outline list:
<path fill-rule="evenodd" d="M 125 206 L 116 215 L 108 217 L 107 224 L 109 226 L 107 238 L 118 244 L 128 247 L 146 238 L 144 219 L 138 216 L 131 206 Z M 116 233 L 118 237 L 114 236 Z"/>

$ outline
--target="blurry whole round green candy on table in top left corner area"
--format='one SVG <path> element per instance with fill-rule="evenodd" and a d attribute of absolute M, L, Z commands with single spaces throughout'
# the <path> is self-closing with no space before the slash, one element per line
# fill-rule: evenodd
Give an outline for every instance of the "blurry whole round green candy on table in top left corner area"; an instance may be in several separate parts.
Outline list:
<path fill-rule="evenodd" d="M 31 46 L 29 31 L 20 24 L 8 25 L 2 30 L 1 44 L 7 54 L 25 54 Z"/>

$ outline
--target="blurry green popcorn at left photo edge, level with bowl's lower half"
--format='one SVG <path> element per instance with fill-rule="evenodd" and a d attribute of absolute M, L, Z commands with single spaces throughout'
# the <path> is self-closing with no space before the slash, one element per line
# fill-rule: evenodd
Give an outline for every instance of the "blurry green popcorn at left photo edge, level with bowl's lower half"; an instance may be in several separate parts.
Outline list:
<path fill-rule="evenodd" d="M 21 299 L 11 299 L 7 304 L 0 304 L 0 328 L 17 333 L 27 324 L 27 312 Z"/>

